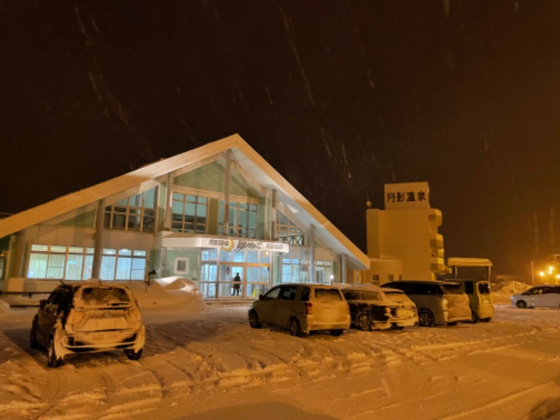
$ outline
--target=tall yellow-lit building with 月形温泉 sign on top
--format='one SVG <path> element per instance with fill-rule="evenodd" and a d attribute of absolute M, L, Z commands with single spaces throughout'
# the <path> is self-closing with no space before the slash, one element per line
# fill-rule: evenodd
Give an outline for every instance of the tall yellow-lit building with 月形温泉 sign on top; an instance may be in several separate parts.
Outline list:
<path fill-rule="evenodd" d="M 427 182 L 385 184 L 384 209 L 367 209 L 363 281 L 435 280 L 445 272 L 442 213 L 430 208 Z"/>

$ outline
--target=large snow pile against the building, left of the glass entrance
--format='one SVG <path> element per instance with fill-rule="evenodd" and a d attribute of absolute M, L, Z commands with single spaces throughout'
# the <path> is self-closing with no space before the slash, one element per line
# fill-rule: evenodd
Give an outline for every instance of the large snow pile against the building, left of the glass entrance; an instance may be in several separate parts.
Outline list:
<path fill-rule="evenodd" d="M 167 310 L 204 311 L 206 304 L 197 285 L 183 277 L 172 276 L 152 279 L 149 286 L 143 282 L 130 282 L 126 286 L 137 298 L 140 309 L 165 307 Z"/>

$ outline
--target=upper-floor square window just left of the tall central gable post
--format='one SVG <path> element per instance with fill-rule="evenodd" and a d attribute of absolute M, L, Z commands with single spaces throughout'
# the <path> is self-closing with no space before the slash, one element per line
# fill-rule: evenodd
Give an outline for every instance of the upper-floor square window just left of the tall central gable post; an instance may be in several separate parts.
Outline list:
<path fill-rule="evenodd" d="M 206 233 L 207 197 L 173 194 L 172 231 L 189 233 Z"/>

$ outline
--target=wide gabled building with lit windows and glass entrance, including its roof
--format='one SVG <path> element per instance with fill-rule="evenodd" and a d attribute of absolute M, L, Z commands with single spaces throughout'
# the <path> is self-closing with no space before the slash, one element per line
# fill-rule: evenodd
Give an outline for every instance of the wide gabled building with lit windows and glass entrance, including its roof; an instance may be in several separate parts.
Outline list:
<path fill-rule="evenodd" d="M 235 134 L 0 220 L 3 290 L 181 276 L 207 299 L 356 281 L 369 258 Z"/>

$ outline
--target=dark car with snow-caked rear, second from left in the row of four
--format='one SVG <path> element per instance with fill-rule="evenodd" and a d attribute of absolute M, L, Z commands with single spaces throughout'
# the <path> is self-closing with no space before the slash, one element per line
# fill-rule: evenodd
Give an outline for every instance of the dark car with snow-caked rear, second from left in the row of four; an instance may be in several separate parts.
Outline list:
<path fill-rule="evenodd" d="M 402 290 L 367 283 L 339 288 L 350 306 L 352 323 L 360 330 L 402 329 L 418 324 L 416 305 Z"/>

